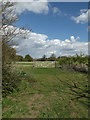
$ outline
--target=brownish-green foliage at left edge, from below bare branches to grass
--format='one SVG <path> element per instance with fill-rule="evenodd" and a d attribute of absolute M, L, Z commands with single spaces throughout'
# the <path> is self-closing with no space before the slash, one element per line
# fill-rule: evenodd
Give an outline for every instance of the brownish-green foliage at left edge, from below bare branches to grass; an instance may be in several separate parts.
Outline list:
<path fill-rule="evenodd" d="M 5 97 L 17 88 L 20 79 L 11 67 L 11 62 L 16 60 L 16 50 L 4 40 L 2 43 L 2 95 Z"/>

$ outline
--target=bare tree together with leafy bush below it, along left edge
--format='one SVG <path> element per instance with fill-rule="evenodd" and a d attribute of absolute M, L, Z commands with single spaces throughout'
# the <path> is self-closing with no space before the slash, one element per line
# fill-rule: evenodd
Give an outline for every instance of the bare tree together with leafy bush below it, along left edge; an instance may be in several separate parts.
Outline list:
<path fill-rule="evenodd" d="M 3 30 L 3 36 L 2 36 L 2 95 L 5 97 L 8 93 L 13 92 L 13 90 L 17 87 L 16 81 L 19 81 L 17 79 L 17 75 L 14 74 L 12 68 L 11 68 L 11 61 L 15 60 L 16 51 L 11 46 L 13 45 L 13 41 L 11 38 L 13 38 L 14 32 L 9 30 L 8 32 L 5 32 L 6 27 L 8 27 L 10 24 L 12 24 L 15 19 L 9 19 L 6 16 L 6 10 L 9 8 L 9 14 L 11 12 L 11 6 L 13 6 L 12 3 L 6 2 L 2 6 L 2 27 L 0 29 Z M 14 76 L 15 75 L 15 76 Z"/>

